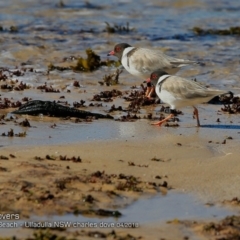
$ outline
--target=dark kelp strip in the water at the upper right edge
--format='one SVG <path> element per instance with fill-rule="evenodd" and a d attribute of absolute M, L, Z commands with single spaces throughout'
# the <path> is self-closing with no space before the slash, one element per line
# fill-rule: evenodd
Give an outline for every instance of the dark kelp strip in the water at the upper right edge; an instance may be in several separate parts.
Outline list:
<path fill-rule="evenodd" d="M 194 27 L 192 31 L 198 36 L 205 35 L 240 35 L 240 27 L 230 27 L 229 29 L 203 29 L 200 27 Z"/>

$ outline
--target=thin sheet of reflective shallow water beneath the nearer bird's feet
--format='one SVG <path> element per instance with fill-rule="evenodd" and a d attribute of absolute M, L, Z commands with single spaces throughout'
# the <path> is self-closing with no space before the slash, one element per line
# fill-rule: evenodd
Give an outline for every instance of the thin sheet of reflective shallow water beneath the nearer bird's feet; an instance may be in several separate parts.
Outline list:
<path fill-rule="evenodd" d="M 201 105 L 199 107 L 202 127 L 197 128 L 196 120 L 192 119 L 192 109 L 186 108 L 184 115 L 179 115 L 179 127 L 158 127 L 150 125 L 150 120 L 141 119 L 136 122 L 121 122 L 114 120 L 93 120 L 93 122 L 74 123 L 70 120 L 59 120 L 46 116 L 18 116 L 17 122 L 27 118 L 31 127 L 21 127 L 15 122 L 7 122 L 1 125 L 0 135 L 7 134 L 12 128 L 15 134 L 26 132 L 25 137 L 0 136 L 1 146 L 24 145 L 54 145 L 71 144 L 76 142 L 91 142 L 101 140 L 143 140 L 154 138 L 156 141 L 173 136 L 194 136 L 198 141 L 220 141 L 230 136 L 239 144 L 240 124 L 237 115 L 214 115 L 219 107 L 215 105 Z M 11 114 L 8 115 L 13 116 Z M 117 116 L 115 116 L 117 118 Z M 216 119 L 221 122 L 217 123 Z M 55 124 L 55 125 L 54 125 Z M 221 129 L 221 131 L 219 131 Z M 221 148 L 214 146 L 214 149 Z"/>

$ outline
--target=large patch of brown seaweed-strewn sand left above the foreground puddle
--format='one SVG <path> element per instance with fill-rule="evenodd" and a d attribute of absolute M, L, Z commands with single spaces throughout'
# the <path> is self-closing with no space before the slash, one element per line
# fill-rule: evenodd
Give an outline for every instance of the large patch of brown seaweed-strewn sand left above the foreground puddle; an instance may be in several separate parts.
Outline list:
<path fill-rule="evenodd" d="M 4 178 L 2 183 L 4 188 L 0 191 L 3 200 L 1 206 L 4 211 L 16 212 L 21 206 L 21 211 L 26 213 L 30 211 L 29 213 L 34 215 L 73 213 L 120 217 L 121 213 L 117 211 L 117 208 L 122 206 L 122 203 L 117 203 L 116 200 L 128 197 L 129 200 L 132 199 L 132 194 L 128 192 L 135 192 L 139 195 L 157 193 L 159 187 L 166 185 L 163 179 L 156 178 L 149 182 L 130 174 L 107 173 L 102 168 L 95 171 L 87 170 L 87 172 L 76 171 L 75 168 L 82 169 L 79 166 L 82 161 L 80 157 L 65 154 L 56 156 L 55 153 L 55 151 L 50 151 L 47 155 L 46 153 L 42 153 L 42 156 L 34 157 L 33 155 L 32 161 L 19 161 L 19 174 Z M 18 160 L 18 156 L 15 159 Z M 10 154 L 5 153 L 1 163 L 11 160 Z M 88 159 L 83 162 L 84 165 L 91 164 Z M 127 161 L 125 163 L 127 164 Z M 139 164 L 137 160 L 135 164 Z M 73 170 L 68 171 L 69 169 Z M 11 168 L 8 170 L 12 171 Z M 20 176 L 29 178 L 21 180 Z M 36 177 L 42 179 L 37 184 L 34 181 Z M 73 193 L 71 199 L 69 199 L 70 192 Z M 114 210 L 109 206 L 115 206 Z"/>

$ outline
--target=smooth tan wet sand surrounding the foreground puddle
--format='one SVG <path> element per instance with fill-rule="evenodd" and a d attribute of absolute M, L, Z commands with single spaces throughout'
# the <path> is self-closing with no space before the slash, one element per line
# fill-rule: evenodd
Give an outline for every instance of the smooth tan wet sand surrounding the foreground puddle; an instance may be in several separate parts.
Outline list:
<path fill-rule="evenodd" d="M 146 122 L 134 124 L 147 125 Z M 154 127 L 148 125 L 146 128 Z M 19 212 L 21 219 L 26 219 L 32 214 L 65 214 L 76 209 L 88 211 L 92 207 L 118 208 L 146 194 L 168 194 L 172 189 L 192 193 L 203 204 L 222 203 L 236 197 L 238 191 L 239 138 L 238 133 L 232 131 L 233 139 L 222 144 L 226 134 L 214 130 L 216 135 L 211 138 L 207 134 L 208 129 L 197 131 L 191 127 L 190 131 L 195 134 L 184 134 L 183 126 L 182 129 L 177 128 L 175 134 L 171 133 L 172 129 L 155 128 L 159 136 L 144 139 L 135 135 L 114 141 L 2 147 L 1 155 L 8 156 L 9 160 L 0 161 L 1 208 L 5 212 Z M 141 132 L 139 135 L 143 136 Z M 55 160 L 46 159 L 46 155 Z M 67 158 L 79 156 L 81 162 L 63 161 L 59 159 L 60 155 Z M 126 181 L 119 179 L 121 174 L 132 176 L 139 182 L 119 190 L 119 184 Z M 161 186 L 164 182 L 167 185 Z M 89 194 L 96 201 L 85 202 Z M 82 204 L 79 204 L 80 199 Z M 85 212 L 86 216 L 89 214 Z M 184 236 L 209 239 L 201 231 L 200 235 L 198 231 L 193 234 L 193 230 L 185 225 L 160 222 L 114 230 L 120 235 L 129 233 L 142 239 L 157 239 L 160 235 L 165 239 L 183 239 Z M 110 232 L 110 229 L 98 230 Z M 20 233 L 25 235 L 32 231 L 23 229 Z M 69 232 L 72 230 L 66 231 L 61 234 L 71 236 Z M 76 234 L 73 236 L 77 237 Z M 87 233 L 81 232 L 79 239 L 85 239 L 84 234 Z"/>

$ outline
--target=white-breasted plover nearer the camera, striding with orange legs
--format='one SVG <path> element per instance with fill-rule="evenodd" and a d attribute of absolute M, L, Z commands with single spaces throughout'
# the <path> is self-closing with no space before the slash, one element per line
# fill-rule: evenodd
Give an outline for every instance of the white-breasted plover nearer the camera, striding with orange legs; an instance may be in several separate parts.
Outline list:
<path fill-rule="evenodd" d="M 228 91 L 206 88 L 193 80 L 168 75 L 162 70 L 153 72 L 150 80 L 156 83 L 156 94 L 164 103 L 170 105 L 171 111 L 171 114 L 165 119 L 152 124 L 157 126 L 161 126 L 168 119 L 174 117 L 176 109 L 192 106 L 194 108 L 193 114 L 197 119 L 197 126 L 200 127 L 198 109 L 195 105 L 206 103 L 215 96 L 229 93 Z"/>

